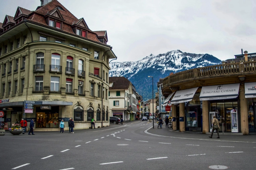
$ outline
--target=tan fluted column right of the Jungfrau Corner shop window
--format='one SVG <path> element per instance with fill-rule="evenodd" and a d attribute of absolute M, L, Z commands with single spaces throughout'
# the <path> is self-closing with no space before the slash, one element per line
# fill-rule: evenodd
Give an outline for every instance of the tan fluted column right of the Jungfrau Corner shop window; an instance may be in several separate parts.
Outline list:
<path fill-rule="evenodd" d="M 243 135 L 248 135 L 249 134 L 248 110 L 247 110 L 247 102 L 245 98 L 244 84 L 240 85 L 239 97 L 240 97 L 241 131 Z"/>

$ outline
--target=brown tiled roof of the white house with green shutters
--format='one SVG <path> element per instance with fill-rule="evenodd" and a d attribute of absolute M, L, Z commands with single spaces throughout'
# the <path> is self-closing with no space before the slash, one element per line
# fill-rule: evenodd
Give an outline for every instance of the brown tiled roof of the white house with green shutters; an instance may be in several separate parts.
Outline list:
<path fill-rule="evenodd" d="M 109 77 L 109 83 L 112 83 L 112 87 L 110 89 L 128 89 L 130 85 L 130 81 L 125 77 Z"/>

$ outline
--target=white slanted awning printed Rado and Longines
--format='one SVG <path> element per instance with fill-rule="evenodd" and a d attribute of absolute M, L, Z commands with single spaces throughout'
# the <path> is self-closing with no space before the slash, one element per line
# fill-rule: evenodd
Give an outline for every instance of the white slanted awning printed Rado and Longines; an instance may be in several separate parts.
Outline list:
<path fill-rule="evenodd" d="M 186 90 L 176 91 L 175 95 L 171 100 L 171 104 L 189 102 L 193 99 L 193 96 L 198 87 Z"/>

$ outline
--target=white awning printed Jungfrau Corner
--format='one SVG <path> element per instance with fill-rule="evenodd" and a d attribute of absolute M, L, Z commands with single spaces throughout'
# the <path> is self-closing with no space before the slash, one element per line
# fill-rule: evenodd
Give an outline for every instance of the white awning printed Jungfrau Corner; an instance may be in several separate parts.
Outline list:
<path fill-rule="evenodd" d="M 240 83 L 203 86 L 199 97 L 200 101 L 237 98 L 239 92 L 239 85 Z"/>

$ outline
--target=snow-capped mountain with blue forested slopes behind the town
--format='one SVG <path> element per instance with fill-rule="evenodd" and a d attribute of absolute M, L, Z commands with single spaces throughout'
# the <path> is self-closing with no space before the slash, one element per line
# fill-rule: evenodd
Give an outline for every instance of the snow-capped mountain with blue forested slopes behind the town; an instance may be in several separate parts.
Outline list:
<path fill-rule="evenodd" d="M 154 92 L 156 92 L 159 78 L 165 78 L 171 72 L 177 73 L 220 63 L 221 60 L 209 54 L 191 54 L 174 50 L 157 56 L 151 54 L 139 61 L 110 63 L 109 77 L 127 76 L 137 92 L 147 100 L 152 98 L 152 79 L 148 76 L 154 77 Z"/>

